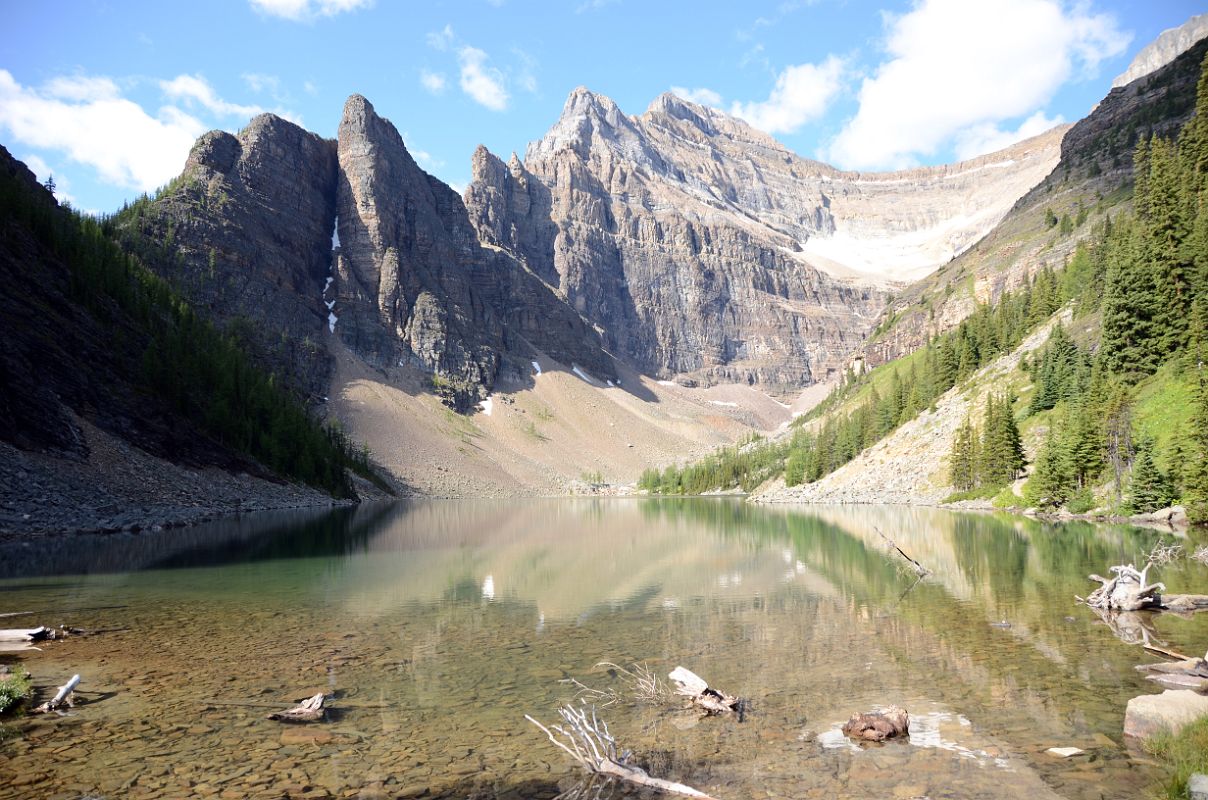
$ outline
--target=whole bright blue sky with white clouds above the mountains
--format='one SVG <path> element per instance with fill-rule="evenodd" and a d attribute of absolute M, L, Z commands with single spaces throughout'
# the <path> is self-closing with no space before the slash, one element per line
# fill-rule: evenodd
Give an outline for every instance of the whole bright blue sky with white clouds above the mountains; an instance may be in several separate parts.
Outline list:
<path fill-rule="evenodd" d="M 4 0 L 0 144 L 79 208 L 180 172 L 262 110 L 333 137 L 366 95 L 464 186 L 576 86 L 640 114 L 662 92 L 791 150 L 888 169 L 987 152 L 1084 116 L 1185 0 Z"/>

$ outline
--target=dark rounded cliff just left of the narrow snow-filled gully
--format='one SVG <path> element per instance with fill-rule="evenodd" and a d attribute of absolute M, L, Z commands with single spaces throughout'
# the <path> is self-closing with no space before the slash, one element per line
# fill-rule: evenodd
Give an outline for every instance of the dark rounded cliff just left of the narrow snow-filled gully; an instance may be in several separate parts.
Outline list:
<path fill-rule="evenodd" d="M 238 137 L 198 139 L 181 176 L 135 208 L 126 233 L 203 315 L 252 320 L 261 360 L 321 394 L 326 314 L 315 286 L 330 263 L 335 181 L 335 143 L 265 114 Z"/>

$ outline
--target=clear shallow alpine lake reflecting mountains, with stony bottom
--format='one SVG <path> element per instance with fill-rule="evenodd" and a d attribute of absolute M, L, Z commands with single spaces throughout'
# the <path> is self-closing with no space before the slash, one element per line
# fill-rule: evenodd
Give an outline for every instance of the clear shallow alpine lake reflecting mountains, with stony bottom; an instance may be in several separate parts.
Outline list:
<path fill-rule="evenodd" d="M 4 627 L 93 633 L 0 653 L 40 698 L 82 676 L 71 711 L 2 720 L 0 798 L 656 796 L 583 782 L 525 720 L 585 701 L 633 763 L 722 800 L 1144 798 L 1166 773 L 1122 736 L 1127 701 L 1160 691 L 1134 669 L 1156 660 L 1139 643 L 1201 654 L 1208 614 L 1109 626 L 1075 596 L 1158 537 L 934 509 L 557 499 L 2 543 L 0 613 L 28 611 Z M 1208 587 L 1189 560 L 1154 572 L 1171 591 Z M 663 679 L 681 665 L 745 713 L 638 696 L 602 662 Z M 316 692 L 325 720 L 267 719 Z M 840 732 L 889 705 L 908 737 Z"/>

